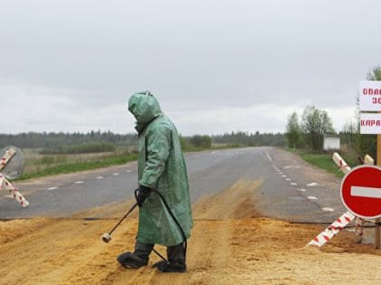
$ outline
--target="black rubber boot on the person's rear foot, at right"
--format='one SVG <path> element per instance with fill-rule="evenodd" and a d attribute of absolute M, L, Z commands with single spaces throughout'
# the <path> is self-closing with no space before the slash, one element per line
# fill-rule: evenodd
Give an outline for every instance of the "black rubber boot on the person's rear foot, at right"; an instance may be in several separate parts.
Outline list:
<path fill-rule="evenodd" d="M 185 249 L 181 242 L 175 246 L 167 247 L 168 261 L 159 261 L 152 267 L 158 268 L 161 272 L 185 272 L 187 266 L 185 264 Z"/>

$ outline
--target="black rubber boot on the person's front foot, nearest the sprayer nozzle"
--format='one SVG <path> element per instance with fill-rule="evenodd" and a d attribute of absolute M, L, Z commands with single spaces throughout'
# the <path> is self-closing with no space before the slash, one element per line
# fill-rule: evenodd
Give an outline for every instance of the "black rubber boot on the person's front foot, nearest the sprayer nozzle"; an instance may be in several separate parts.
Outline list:
<path fill-rule="evenodd" d="M 136 242 L 134 252 L 123 252 L 116 260 L 125 268 L 141 268 L 148 264 L 152 249 L 152 243 Z"/>

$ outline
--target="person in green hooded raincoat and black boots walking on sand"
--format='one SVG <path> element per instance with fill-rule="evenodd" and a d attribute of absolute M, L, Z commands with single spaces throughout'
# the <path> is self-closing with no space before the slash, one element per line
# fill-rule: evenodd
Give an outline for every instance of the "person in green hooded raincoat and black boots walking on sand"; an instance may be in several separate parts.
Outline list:
<path fill-rule="evenodd" d="M 153 267 L 164 272 L 186 271 L 186 241 L 193 221 L 177 130 L 149 91 L 134 93 L 128 109 L 139 134 L 139 226 L 134 252 L 120 254 L 117 261 L 128 268 L 147 265 L 157 243 L 167 247 L 168 261 L 156 262 Z"/>

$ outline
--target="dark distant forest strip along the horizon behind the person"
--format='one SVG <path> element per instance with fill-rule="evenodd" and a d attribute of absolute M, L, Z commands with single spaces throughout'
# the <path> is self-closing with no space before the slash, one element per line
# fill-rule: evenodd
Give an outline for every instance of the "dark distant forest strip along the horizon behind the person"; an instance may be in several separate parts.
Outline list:
<path fill-rule="evenodd" d="M 213 136 L 181 136 L 190 144 L 198 141 L 198 138 L 209 138 L 212 144 L 225 144 L 230 146 L 286 146 L 286 138 L 283 134 L 256 132 L 231 132 Z M 138 136 L 136 134 L 114 134 L 111 131 L 91 131 L 88 133 L 63 133 L 63 132 L 28 132 L 20 134 L 0 134 L 0 147 L 15 146 L 21 148 L 52 148 L 62 146 L 74 146 L 90 143 L 107 143 L 114 146 L 136 146 Z"/>

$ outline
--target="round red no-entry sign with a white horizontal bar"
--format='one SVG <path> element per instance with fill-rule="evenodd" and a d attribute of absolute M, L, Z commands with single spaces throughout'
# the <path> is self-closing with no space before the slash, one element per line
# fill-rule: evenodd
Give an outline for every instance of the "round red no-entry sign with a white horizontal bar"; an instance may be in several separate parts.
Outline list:
<path fill-rule="evenodd" d="M 381 216 L 381 168 L 358 166 L 341 182 L 340 195 L 347 209 L 366 219 Z"/>

